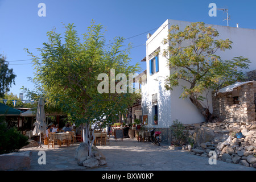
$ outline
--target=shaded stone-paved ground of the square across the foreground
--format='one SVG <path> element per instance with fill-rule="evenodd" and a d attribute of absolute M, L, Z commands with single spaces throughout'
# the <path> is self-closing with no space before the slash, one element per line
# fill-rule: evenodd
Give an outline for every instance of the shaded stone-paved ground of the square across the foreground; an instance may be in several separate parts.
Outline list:
<path fill-rule="evenodd" d="M 20 151 L 32 151 L 32 162 L 29 171 L 62 171 L 62 170 L 92 170 L 92 171 L 256 171 L 255 168 L 245 167 L 240 164 L 230 164 L 217 160 L 216 165 L 208 163 L 209 158 L 191 155 L 188 151 L 169 150 L 168 146 L 161 144 L 155 146 L 150 142 L 138 142 L 135 139 L 123 139 L 115 142 L 110 139 L 110 144 L 97 146 L 106 156 L 107 165 L 98 168 L 85 168 L 77 166 L 75 150 L 76 143 L 71 147 L 23 148 Z M 46 165 L 38 164 L 38 152 L 46 152 Z"/>

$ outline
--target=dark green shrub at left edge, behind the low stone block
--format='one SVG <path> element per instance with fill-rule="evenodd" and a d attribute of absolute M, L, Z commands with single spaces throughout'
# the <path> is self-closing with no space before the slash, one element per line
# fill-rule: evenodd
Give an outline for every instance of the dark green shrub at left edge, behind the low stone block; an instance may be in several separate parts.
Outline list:
<path fill-rule="evenodd" d="M 5 123 L 0 123 L 0 154 L 19 151 L 28 144 L 28 137 L 20 134 L 14 127 L 7 129 Z"/>

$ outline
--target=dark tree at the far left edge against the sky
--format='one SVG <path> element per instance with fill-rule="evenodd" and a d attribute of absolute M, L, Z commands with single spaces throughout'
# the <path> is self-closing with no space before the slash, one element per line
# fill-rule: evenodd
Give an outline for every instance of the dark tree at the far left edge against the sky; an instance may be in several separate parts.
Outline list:
<path fill-rule="evenodd" d="M 0 98 L 3 98 L 4 94 L 10 91 L 11 84 L 15 85 L 14 78 L 16 75 L 14 75 L 13 69 L 9 69 L 8 66 L 6 57 L 0 54 Z"/>

